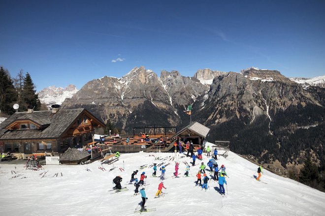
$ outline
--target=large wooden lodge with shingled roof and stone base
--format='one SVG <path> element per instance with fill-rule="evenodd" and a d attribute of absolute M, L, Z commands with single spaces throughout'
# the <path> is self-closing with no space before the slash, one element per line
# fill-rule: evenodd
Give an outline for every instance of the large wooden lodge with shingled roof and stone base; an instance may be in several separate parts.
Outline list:
<path fill-rule="evenodd" d="M 0 152 L 44 155 L 63 153 L 93 140 L 96 127 L 105 127 L 86 109 L 16 112 L 0 123 Z"/>

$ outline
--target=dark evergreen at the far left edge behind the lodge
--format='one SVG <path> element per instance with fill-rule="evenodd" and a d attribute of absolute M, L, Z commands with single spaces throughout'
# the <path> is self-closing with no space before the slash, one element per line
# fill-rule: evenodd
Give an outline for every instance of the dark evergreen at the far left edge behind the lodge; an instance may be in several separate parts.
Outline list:
<path fill-rule="evenodd" d="M 17 100 L 17 93 L 13 86 L 9 72 L 0 67 L 0 111 L 3 114 L 12 115 L 12 108 Z"/>

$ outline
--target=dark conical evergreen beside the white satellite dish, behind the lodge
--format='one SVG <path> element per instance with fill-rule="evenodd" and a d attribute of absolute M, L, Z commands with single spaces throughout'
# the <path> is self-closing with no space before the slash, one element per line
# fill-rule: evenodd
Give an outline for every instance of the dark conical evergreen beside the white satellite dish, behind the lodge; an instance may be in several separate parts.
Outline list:
<path fill-rule="evenodd" d="M 36 94 L 35 86 L 32 82 L 31 75 L 27 72 L 24 79 L 24 86 L 22 90 L 22 109 L 26 111 L 28 108 L 33 108 L 34 110 L 39 110 L 41 108 L 41 103 L 38 99 L 38 94 Z"/>

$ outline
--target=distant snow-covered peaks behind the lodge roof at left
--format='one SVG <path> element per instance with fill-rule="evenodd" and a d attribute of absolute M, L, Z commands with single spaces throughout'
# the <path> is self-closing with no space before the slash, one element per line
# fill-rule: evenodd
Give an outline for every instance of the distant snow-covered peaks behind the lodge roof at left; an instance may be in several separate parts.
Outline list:
<path fill-rule="evenodd" d="M 52 104 L 62 104 L 65 98 L 71 98 L 75 93 L 77 93 L 77 88 L 70 84 L 65 88 L 50 86 L 44 88 L 38 93 L 38 98 L 41 103 L 45 103 L 48 106 Z"/>

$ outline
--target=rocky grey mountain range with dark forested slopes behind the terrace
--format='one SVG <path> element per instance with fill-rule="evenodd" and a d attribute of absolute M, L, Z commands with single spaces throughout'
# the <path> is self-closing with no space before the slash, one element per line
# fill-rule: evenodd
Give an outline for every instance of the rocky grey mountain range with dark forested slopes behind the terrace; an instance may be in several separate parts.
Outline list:
<path fill-rule="evenodd" d="M 299 80 L 255 67 L 240 73 L 202 69 L 193 77 L 162 70 L 159 77 L 141 66 L 122 78 L 89 81 L 62 107 L 84 107 L 127 133 L 197 121 L 211 128 L 208 141 L 228 140 L 232 151 L 278 173 L 308 156 L 324 170 L 325 89 L 322 79 L 318 86 Z M 191 116 L 184 112 L 189 104 Z"/>

